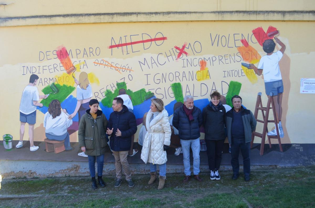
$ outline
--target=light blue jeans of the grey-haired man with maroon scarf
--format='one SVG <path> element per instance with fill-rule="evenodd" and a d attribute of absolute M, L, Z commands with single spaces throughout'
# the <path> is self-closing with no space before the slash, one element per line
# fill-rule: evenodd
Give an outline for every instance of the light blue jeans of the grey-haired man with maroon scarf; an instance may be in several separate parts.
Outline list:
<path fill-rule="evenodd" d="M 193 170 L 194 170 L 194 175 L 198 175 L 200 170 L 199 170 L 199 165 L 200 165 L 200 140 L 194 139 L 194 140 L 180 140 L 181 144 L 181 149 L 183 150 L 183 157 L 184 157 L 184 168 L 185 168 L 185 175 L 190 176 L 191 171 L 190 171 L 190 147 L 192 147 L 192 156 L 194 158 L 193 161 Z"/>

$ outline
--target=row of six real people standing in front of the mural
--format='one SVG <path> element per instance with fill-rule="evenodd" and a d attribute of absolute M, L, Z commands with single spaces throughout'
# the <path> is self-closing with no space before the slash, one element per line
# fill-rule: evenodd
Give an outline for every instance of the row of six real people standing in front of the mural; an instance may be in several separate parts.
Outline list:
<path fill-rule="evenodd" d="M 224 140 L 226 135 L 231 145 L 231 164 L 233 168 L 232 179 L 239 176 L 238 155 L 241 150 L 244 166 L 244 180 L 249 181 L 250 160 L 249 150 L 251 134 L 255 130 L 256 120 L 249 110 L 242 107 L 242 98 L 238 95 L 232 97 L 233 108 L 226 112 L 221 104 L 221 95 L 215 91 L 211 101 L 201 111 L 194 106 L 192 96 L 184 97 L 184 104 L 174 112 L 173 126 L 178 129 L 180 144 L 183 150 L 183 163 L 185 177 L 184 183 L 191 178 L 190 148 L 193 154 L 193 175 L 197 181 L 202 181 L 199 176 L 200 165 L 200 127 L 205 130 L 208 164 L 211 180 L 220 180 L 219 168 Z M 95 161 L 98 167 L 98 184 L 104 187 L 102 170 L 104 152 L 107 145 L 106 134 L 110 137 L 110 148 L 115 157 L 116 180 L 115 187 L 123 181 L 124 172 L 129 187 L 135 184 L 131 179 L 131 171 L 127 160 L 131 145 L 132 135 L 137 131 L 135 115 L 124 105 L 121 97 L 113 99 L 109 120 L 99 110 L 96 99 L 89 101 L 89 110 L 83 115 L 79 123 L 79 146 L 89 157 L 89 169 L 92 177 L 92 188 L 97 188 L 95 179 Z M 147 133 L 143 140 L 141 159 L 150 164 L 150 179 L 148 184 L 153 184 L 157 179 L 157 165 L 159 166 L 159 184 L 157 189 L 163 189 L 166 180 L 166 150 L 170 145 L 171 127 L 168 112 L 163 101 L 159 98 L 151 100 L 150 110 L 144 121 Z"/>

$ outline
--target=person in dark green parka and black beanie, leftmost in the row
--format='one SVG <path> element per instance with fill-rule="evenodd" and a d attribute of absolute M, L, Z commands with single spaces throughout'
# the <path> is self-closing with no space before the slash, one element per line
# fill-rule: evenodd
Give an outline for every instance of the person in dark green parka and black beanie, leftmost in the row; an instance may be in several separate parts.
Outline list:
<path fill-rule="evenodd" d="M 92 177 L 92 189 L 97 189 L 95 179 L 95 160 L 97 162 L 97 180 L 101 187 L 106 184 L 102 179 L 104 153 L 106 151 L 106 125 L 107 119 L 99 110 L 99 102 L 96 99 L 89 101 L 90 109 L 82 116 L 79 123 L 79 147 L 88 155 L 89 170 Z"/>

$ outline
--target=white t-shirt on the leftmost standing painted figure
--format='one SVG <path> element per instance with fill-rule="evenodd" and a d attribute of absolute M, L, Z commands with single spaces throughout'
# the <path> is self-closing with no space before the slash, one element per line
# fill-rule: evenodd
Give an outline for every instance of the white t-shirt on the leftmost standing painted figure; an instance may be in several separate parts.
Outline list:
<path fill-rule="evenodd" d="M 20 112 L 27 115 L 36 111 L 33 101 L 39 101 L 38 89 L 35 86 L 27 85 L 22 92 Z"/>

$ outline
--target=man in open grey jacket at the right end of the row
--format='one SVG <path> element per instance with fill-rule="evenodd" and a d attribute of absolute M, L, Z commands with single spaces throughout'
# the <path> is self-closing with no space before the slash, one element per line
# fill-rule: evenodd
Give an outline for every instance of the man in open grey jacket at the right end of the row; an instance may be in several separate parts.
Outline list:
<path fill-rule="evenodd" d="M 238 95 L 232 97 L 233 108 L 226 112 L 227 138 L 231 144 L 232 179 L 239 176 L 238 155 L 241 150 L 243 156 L 244 180 L 249 181 L 250 160 L 249 150 L 252 132 L 256 129 L 256 119 L 253 113 L 242 107 L 242 98 Z"/>

